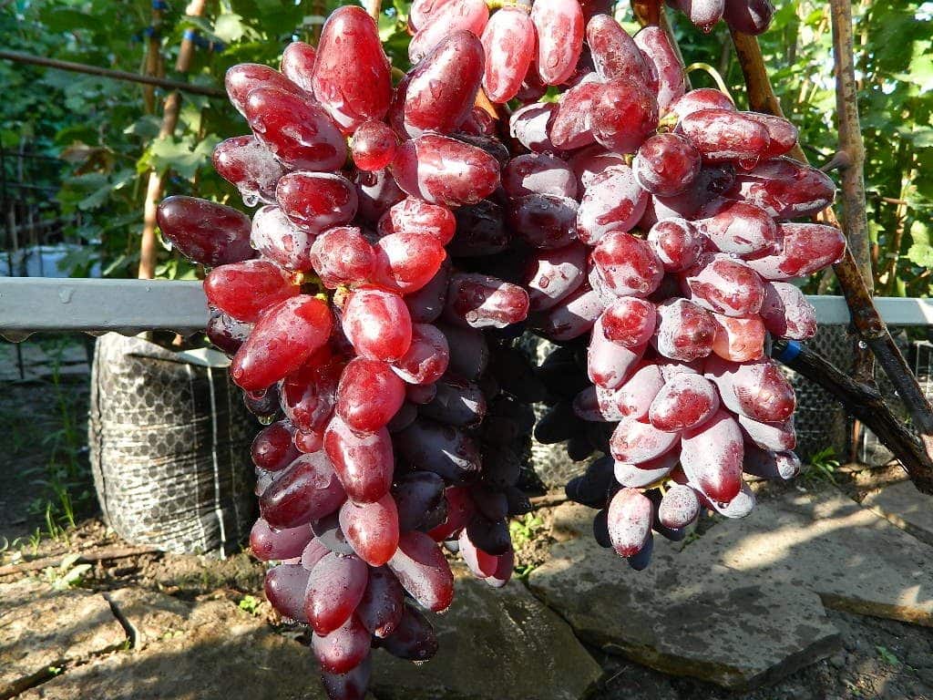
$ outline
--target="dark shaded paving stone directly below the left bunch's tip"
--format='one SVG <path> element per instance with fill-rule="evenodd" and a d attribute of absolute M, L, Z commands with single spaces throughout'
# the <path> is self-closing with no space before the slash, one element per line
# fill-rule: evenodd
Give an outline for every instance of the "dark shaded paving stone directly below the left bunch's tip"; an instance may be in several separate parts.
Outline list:
<path fill-rule="evenodd" d="M 460 575 L 453 606 L 431 617 L 437 656 L 413 665 L 380 651 L 380 700 L 577 700 L 602 669 L 553 611 L 520 581 L 493 589 Z"/>

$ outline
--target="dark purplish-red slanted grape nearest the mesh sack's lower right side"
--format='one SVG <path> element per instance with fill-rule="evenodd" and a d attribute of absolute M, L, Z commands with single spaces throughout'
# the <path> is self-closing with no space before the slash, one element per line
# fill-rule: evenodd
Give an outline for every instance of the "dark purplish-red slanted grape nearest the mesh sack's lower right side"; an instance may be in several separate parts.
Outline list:
<path fill-rule="evenodd" d="M 297 527 L 336 511 L 345 498 L 326 455 L 299 455 L 262 492 L 259 511 L 272 527 Z"/>

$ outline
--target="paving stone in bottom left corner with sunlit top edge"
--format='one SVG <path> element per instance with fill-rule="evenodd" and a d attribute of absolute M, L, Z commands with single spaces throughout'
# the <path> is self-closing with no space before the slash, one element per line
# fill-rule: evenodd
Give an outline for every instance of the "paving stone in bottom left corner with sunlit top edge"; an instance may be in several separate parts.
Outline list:
<path fill-rule="evenodd" d="M 226 600 L 188 630 L 67 670 L 17 700 L 326 700 L 311 651 Z"/>

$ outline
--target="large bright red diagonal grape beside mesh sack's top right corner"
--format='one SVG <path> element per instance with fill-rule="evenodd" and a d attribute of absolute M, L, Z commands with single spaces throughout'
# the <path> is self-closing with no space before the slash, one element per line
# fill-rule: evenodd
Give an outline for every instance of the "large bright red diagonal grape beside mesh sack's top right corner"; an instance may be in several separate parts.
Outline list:
<path fill-rule="evenodd" d="M 327 304 L 300 294 L 269 307 L 230 364 L 230 376 L 247 391 L 275 384 L 297 370 L 330 336 Z"/>

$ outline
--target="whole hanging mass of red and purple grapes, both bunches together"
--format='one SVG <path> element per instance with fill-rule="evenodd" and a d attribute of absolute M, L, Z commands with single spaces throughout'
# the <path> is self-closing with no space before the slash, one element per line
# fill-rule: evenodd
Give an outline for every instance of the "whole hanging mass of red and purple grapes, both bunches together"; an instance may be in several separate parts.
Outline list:
<path fill-rule="evenodd" d="M 312 628 L 332 698 L 363 697 L 374 647 L 435 653 L 418 606 L 451 605 L 442 546 L 508 581 L 533 402 L 551 404 L 541 441 L 608 455 L 568 494 L 636 567 L 652 527 L 744 514 L 743 470 L 797 467 L 765 346 L 815 331 L 787 280 L 844 243 L 788 220 L 832 182 L 785 157 L 786 120 L 686 91 L 659 27 L 633 38 L 600 9 L 416 0 L 394 86 L 376 22 L 341 7 L 317 49 L 226 77 L 251 133 L 214 164 L 254 215 L 160 204 L 165 238 L 210 268 L 208 337 L 265 425 L 266 594 Z M 525 329 L 561 345 L 539 369 Z"/>

